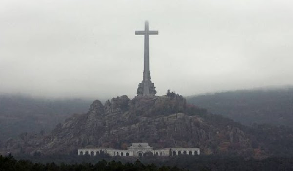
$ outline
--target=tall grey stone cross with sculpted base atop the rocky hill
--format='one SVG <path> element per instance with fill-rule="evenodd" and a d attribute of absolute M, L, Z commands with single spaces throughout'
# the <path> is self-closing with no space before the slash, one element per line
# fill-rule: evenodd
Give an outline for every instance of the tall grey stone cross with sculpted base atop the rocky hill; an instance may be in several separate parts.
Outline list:
<path fill-rule="evenodd" d="M 144 52 L 144 78 L 143 81 L 138 85 L 137 96 L 155 96 L 157 91 L 155 90 L 154 84 L 150 81 L 149 71 L 149 41 L 148 35 L 158 34 L 158 31 L 148 30 L 148 21 L 145 21 L 145 30 L 136 31 L 136 35 L 145 35 L 145 52 Z"/>

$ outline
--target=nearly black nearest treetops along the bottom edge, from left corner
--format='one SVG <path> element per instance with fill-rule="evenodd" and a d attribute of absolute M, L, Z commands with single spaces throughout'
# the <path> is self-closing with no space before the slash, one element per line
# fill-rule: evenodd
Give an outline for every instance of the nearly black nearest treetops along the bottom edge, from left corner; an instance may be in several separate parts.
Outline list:
<path fill-rule="evenodd" d="M 0 155 L 0 171 L 186 171 L 177 167 L 162 166 L 155 164 L 144 165 L 139 160 L 134 163 L 121 161 L 107 162 L 101 160 L 96 164 L 55 164 L 52 163 L 33 163 L 30 160 L 16 160 L 11 154 L 8 156 Z"/>

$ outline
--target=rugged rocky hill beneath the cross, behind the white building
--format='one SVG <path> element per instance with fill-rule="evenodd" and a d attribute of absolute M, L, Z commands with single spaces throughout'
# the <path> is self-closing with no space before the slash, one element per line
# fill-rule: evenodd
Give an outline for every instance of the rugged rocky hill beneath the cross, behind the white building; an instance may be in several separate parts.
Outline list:
<path fill-rule="evenodd" d="M 76 154 L 77 148 L 124 149 L 132 142 L 154 148 L 199 147 L 202 154 L 269 154 L 245 126 L 188 105 L 179 95 L 121 96 L 104 105 L 96 100 L 86 114 L 74 115 L 50 134 L 22 134 L 3 143 L 1 152 Z"/>

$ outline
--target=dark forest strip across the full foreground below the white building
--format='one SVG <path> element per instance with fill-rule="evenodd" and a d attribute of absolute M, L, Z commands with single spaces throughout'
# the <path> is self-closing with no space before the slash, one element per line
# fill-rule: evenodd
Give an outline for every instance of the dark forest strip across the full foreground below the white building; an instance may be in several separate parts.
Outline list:
<path fill-rule="evenodd" d="M 24 156 L 22 156 L 23 158 Z M 58 161 L 53 162 L 53 158 Z M 25 158 L 25 157 L 24 157 Z M 66 164 L 65 164 L 66 163 Z M 0 171 L 292 171 L 292 157 L 246 159 L 236 155 L 172 157 L 0 156 Z"/>

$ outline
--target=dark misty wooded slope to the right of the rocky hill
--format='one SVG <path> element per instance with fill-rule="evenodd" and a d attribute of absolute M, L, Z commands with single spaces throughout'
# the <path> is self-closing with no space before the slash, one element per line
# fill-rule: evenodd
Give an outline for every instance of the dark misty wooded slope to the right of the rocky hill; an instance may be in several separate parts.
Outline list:
<path fill-rule="evenodd" d="M 293 122 L 293 87 L 228 91 L 191 96 L 187 101 L 245 125 L 292 126 Z"/>

